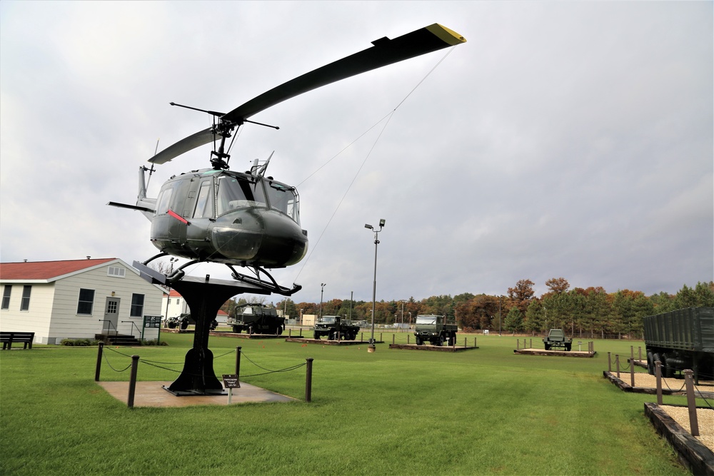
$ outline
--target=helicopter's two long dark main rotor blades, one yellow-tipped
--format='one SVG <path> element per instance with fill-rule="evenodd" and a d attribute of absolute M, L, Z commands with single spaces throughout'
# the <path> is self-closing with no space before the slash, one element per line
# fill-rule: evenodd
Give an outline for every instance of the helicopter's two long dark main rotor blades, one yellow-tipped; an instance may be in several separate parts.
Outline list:
<path fill-rule="evenodd" d="M 260 96 L 221 116 L 221 121 L 235 123 L 240 126 L 243 121 L 253 116 L 253 114 L 302 93 L 350 76 L 465 42 L 466 39 L 456 31 L 452 31 L 438 23 L 398 36 L 395 39 L 388 39 L 385 36 L 372 41 L 374 46 L 371 48 L 334 61 L 262 93 Z M 182 153 L 191 151 L 191 149 L 203 146 L 203 144 L 211 141 L 213 141 L 213 128 L 208 128 L 169 146 L 149 159 L 149 162 L 168 162 Z"/>

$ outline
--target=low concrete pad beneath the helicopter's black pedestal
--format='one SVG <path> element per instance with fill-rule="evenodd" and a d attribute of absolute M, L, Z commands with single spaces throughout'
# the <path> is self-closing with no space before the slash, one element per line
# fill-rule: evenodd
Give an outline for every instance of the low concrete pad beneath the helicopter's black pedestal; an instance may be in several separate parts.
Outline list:
<path fill-rule="evenodd" d="M 97 382 L 109 395 L 127 403 L 129 382 Z M 134 407 L 192 407 L 196 405 L 228 405 L 228 395 L 185 395 L 176 397 L 164 389 L 171 382 L 137 382 L 134 389 Z M 234 388 L 231 405 L 245 402 L 297 402 L 295 398 L 273 393 L 264 388 L 241 382 Z"/>

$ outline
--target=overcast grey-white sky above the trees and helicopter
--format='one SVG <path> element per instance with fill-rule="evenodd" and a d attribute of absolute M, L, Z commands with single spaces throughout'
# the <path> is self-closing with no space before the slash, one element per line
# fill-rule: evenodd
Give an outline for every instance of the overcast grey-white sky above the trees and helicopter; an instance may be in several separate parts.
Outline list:
<path fill-rule="evenodd" d="M 303 285 L 293 300 L 321 283 L 371 300 L 380 218 L 377 300 L 713 280 L 713 5 L 3 0 L 0 259 L 149 258 L 149 221 L 106 203 L 134 203 L 157 139 L 210 125 L 170 101 L 227 112 L 440 23 L 468 42 L 251 118 L 279 131 L 241 129 L 231 168 L 275 151 L 268 174 L 298 186 L 308 257 L 273 273 Z M 149 196 L 210 147 L 159 166 Z"/>

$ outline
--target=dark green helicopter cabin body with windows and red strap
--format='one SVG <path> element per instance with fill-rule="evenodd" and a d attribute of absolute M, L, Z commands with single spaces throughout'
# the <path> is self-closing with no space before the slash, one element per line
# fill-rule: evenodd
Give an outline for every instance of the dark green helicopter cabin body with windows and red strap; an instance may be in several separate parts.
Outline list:
<path fill-rule="evenodd" d="M 207 168 L 161 187 L 151 243 L 164 253 L 229 265 L 283 268 L 307 251 L 295 188 L 251 173 Z"/>

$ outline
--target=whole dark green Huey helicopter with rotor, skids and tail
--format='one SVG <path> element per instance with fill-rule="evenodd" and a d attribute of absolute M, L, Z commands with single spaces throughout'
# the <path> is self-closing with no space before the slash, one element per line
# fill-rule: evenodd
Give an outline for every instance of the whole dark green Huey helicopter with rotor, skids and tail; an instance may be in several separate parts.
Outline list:
<path fill-rule="evenodd" d="M 228 169 L 230 155 L 226 139 L 254 114 L 286 99 L 350 76 L 381 68 L 466 39 L 440 24 L 432 24 L 395 39 L 373 41 L 370 48 L 335 61 L 276 86 L 228 113 L 171 103 L 213 116 L 213 126 L 174 143 L 149 159 L 151 168 L 139 167 L 139 196 L 136 205 L 109 202 L 131 208 L 151 221 L 151 243 L 161 253 L 143 264 L 166 255 L 190 260 L 167 278 L 180 280 L 183 269 L 201 262 L 223 263 L 236 280 L 246 281 L 282 295 L 301 288 L 285 288 L 265 268 L 284 268 L 298 263 L 308 248 L 307 231 L 300 226 L 299 197 L 295 187 L 266 176 L 270 158 L 250 171 Z M 275 126 L 270 126 L 277 128 Z M 169 178 L 157 198 L 146 196 L 146 173 L 154 164 L 171 161 L 193 148 L 213 142 L 211 168 L 193 170 Z M 272 154 L 271 154 L 272 156 Z M 238 273 L 234 266 L 252 268 L 255 277 Z M 265 275 L 268 280 L 261 278 Z"/>

